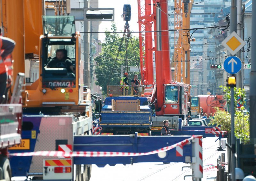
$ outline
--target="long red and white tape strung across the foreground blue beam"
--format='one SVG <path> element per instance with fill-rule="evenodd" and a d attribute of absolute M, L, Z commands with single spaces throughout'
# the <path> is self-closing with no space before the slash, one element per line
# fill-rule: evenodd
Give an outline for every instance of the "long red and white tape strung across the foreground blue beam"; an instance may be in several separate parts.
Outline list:
<path fill-rule="evenodd" d="M 84 156 L 84 157 L 97 157 L 97 156 L 143 156 L 152 155 L 164 151 L 168 151 L 177 147 L 178 145 L 186 145 L 189 141 L 197 136 L 191 136 L 188 139 L 175 143 L 171 146 L 160 148 L 154 151 L 149 151 L 146 153 L 131 153 L 131 152 L 111 152 L 111 151 L 74 151 L 74 152 L 64 152 L 64 151 L 36 151 L 36 152 L 26 152 L 26 153 L 11 153 L 12 156 Z"/>

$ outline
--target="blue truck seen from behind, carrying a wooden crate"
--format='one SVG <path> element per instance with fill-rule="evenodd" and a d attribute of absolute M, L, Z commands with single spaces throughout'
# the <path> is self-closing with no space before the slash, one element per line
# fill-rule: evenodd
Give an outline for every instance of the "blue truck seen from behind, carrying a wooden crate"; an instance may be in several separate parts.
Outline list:
<path fill-rule="evenodd" d="M 107 97 L 101 111 L 101 134 L 151 135 L 152 111 L 145 97 Z"/>

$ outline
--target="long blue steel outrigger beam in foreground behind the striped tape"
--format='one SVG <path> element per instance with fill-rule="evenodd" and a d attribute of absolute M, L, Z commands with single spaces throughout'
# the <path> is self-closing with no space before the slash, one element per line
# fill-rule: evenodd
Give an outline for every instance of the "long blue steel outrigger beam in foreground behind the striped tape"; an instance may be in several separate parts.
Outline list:
<path fill-rule="evenodd" d="M 183 141 L 190 136 L 136 136 L 136 135 L 97 135 L 75 136 L 74 151 L 113 151 L 144 153 L 154 151 Z M 139 162 L 185 162 L 185 156 L 192 156 L 192 144 L 183 147 L 183 156 L 176 156 L 176 149 L 167 151 L 164 158 L 157 154 L 147 156 L 118 157 L 74 157 L 75 164 L 96 164 L 104 167 L 106 164 L 116 165 Z"/>

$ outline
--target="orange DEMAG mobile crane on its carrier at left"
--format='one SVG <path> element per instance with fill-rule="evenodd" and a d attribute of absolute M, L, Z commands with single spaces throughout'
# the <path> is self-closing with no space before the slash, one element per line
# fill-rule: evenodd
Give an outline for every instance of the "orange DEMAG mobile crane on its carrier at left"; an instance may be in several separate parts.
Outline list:
<path fill-rule="evenodd" d="M 55 151 L 60 145 L 72 151 L 75 135 L 91 134 L 91 93 L 83 86 L 80 33 L 75 32 L 74 17 L 64 16 L 70 13 L 68 3 L 1 0 L 5 36 L 16 41 L 14 75 L 25 69 L 26 77 L 33 74 L 23 94 L 23 144 L 14 146 L 10 153 Z M 58 16 L 42 16 L 44 8 L 53 8 Z M 59 49 L 72 62 L 73 72 L 46 66 Z M 75 165 L 73 159 L 10 156 L 12 176 L 71 180 L 75 175 L 76 180 L 89 180 L 91 165 Z M 66 164 L 50 164 L 54 160 Z"/>

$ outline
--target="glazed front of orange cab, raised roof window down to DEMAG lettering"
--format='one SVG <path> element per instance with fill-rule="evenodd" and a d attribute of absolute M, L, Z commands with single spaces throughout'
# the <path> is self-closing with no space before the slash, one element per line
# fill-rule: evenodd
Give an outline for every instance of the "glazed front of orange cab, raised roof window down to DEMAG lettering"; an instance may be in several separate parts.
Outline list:
<path fill-rule="evenodd" d="M 76 39 L 73 18 L 43 16 L 43 88 L 76 87 Z"/>

